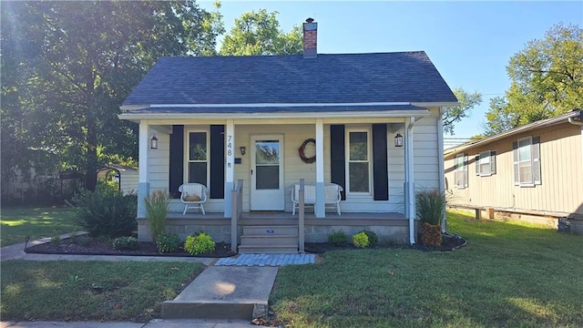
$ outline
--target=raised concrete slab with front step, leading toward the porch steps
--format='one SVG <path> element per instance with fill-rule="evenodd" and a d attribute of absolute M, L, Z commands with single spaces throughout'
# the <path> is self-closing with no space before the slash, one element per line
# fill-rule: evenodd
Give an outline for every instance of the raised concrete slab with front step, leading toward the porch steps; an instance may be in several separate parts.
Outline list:
<path fill-rule="evenodd" d="M 209 267 L 174 300 L 162 303 L 162 318 L 251 320 L 265 316 L 277 270 Z"/>

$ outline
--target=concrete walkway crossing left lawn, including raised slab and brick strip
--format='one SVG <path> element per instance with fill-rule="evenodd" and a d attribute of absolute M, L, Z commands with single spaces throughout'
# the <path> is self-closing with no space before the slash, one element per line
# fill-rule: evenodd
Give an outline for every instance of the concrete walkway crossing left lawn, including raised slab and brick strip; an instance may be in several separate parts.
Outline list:
<path fill-rule="evenodd" d="M 68 238 L 68 234 L 61 236 Z M 29 241 L 27 246 L 50 242 Z M 169 256 L 27 254 L 25 243 L 3 247 L 0 260 L 27 261 L 189 261 L 207 269 L 172 301 L 162 304 L 162 316 L 149 323 L 128 322 L 0 322 L 0 328 L 239 328 L 265 316 L 278 267 L 315 261 L 313 254 L 240 254 L 230 258 Z M 202 318 L 202 319 L 200 319 Z M 220 318 L 220 319 L 216 319 Z"/>

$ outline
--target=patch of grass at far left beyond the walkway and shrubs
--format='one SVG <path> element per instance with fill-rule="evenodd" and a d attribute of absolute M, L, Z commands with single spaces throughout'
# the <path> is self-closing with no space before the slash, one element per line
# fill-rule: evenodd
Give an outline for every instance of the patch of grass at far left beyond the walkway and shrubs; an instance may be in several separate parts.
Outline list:
<path fill-rule="evenodd" d="M 80 231 L 71 208 L 2 208 L 0 213 L 0 245 L 2 247 Z"/>

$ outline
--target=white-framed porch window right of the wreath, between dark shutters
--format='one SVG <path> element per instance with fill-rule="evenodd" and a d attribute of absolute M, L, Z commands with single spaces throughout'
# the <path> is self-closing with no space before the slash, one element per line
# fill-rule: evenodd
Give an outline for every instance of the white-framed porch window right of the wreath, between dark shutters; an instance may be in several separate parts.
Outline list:
<path fill-rule="evenodd" d="M 348 142 L 348 192 L 371 194 L 371 150 L 370 131 L 352 130 L 347 134 Z"/>

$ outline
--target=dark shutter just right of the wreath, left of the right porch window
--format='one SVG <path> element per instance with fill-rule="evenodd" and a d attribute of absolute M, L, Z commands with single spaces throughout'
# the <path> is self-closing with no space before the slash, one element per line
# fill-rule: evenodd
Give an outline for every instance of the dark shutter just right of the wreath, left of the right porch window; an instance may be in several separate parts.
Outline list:
<path fill-rule="evenodd" d="M 330 126 L 330 171 L 332 183 L 343 188 L 342 199 L 346 200 L 346 162 L 344 154 L 344 126 Z"/>

